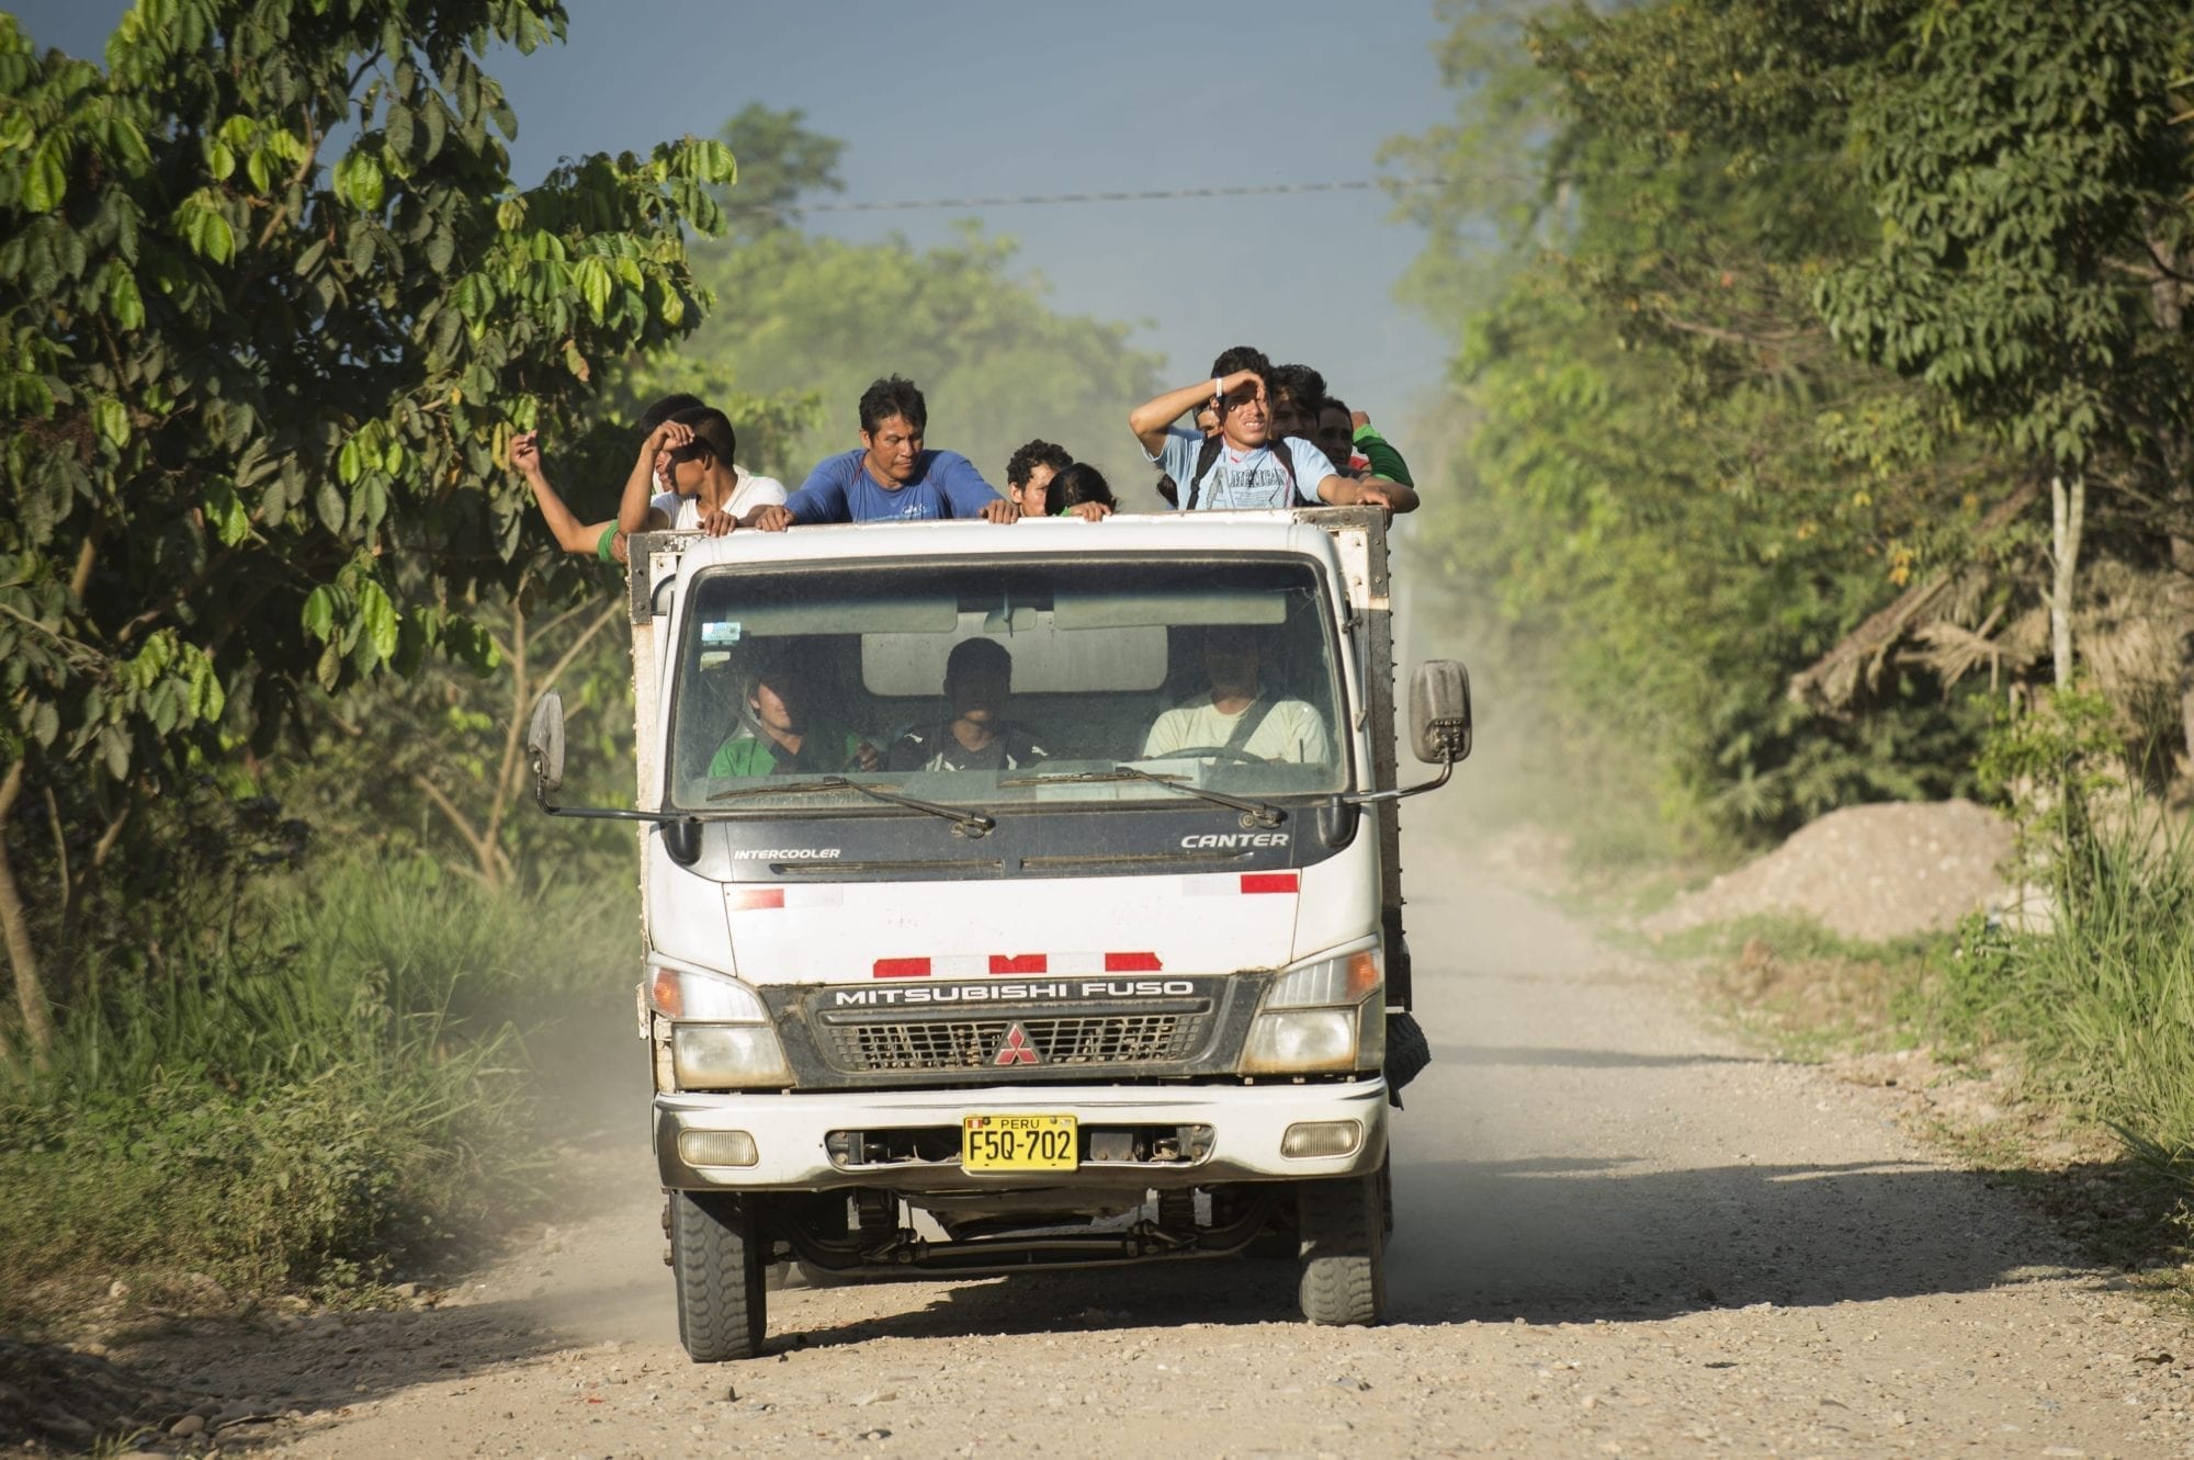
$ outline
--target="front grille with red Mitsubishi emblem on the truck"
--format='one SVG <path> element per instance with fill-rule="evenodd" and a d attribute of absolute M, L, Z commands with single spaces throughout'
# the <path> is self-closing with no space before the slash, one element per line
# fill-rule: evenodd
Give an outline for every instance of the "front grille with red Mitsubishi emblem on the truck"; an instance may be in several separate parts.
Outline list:
<path fill-rule="evenodd" d="M 1020 1024 L 1036 1065 L 1161 1065 L 1191 1059 L 1209 1011 L 1053 1015 L 1036 1019 L 825 1019 L 823 1054 L 847 1074 L 1027 1065 L 1007 1050 Z"/>

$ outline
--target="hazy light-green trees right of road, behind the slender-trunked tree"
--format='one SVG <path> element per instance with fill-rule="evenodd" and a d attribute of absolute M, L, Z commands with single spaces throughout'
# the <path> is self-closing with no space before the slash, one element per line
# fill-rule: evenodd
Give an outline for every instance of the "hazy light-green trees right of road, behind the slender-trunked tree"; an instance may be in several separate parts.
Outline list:
<path fill-rule="evenodd" d="M 1832 719 L 1784 695 L 1992 506 L 1948 412 L 1814 309 L 1869 228 L 1814 79 L 1854 42 L 1764 48 L 1757 9 L 1714 4 L 1448 13 L 1459 118 L 1387 156 L 1459 180 L 1415 204 L 1461 340 L 1459 480 L 1426 520 L 1457 598 L 1494 590 L 1678 822 L 1961 789 L 1979 717 L 1931 673 L 1876 660 Z"/>

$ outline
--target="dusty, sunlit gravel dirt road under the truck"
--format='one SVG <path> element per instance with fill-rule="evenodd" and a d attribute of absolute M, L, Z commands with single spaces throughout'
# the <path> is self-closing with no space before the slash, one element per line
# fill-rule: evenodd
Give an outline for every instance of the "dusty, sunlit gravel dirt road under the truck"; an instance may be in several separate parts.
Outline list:
<path fill-rule="evenodd" d="M 781 1291 L 766 1359 L 695 1368 L 634 1114 L 575 1210 L 630 1199 L 439 1309 L 171 1348 L 178 1377 L 301 1416 L 224 1445 L 340 1458 L 2194 1449 L 2183 1324 L 1878 1092 L 1744 1052 L 1665 969 L 1448 875 L 1413 903 L 1437 1061 L 1398 1122 L 1391 1326 L 1308 1328 L 1292 1267 L 1244 1261 Z"/>

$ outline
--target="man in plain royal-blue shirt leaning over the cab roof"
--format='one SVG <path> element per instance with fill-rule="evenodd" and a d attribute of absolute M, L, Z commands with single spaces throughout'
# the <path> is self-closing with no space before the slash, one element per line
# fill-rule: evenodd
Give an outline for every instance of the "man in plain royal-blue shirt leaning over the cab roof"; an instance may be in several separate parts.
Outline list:
<path fill-rule="evenodd" d="M 794 522 L 1016 522 L 1020 509 L 972 460 L 921 449 L 928 421 L 915 381 L 897 375 L 875 381 L 860 397 L 860 449 L 827 458 L 783 506 L 757 506 L 742 526 L 781 533 Z"/>

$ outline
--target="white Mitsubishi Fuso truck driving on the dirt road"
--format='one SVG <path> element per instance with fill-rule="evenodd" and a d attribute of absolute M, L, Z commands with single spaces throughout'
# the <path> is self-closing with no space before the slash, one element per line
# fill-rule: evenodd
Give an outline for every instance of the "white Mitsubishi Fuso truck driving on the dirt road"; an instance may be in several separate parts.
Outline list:
<path fill-rule="evenodd" d="M 1393 802 L 1470 752 L 1470 682 L 1417 671 L 1441 769 L 1398 787 L 1378 509 L 665 533 L 630 583 L 636 809 L 548 800 L 553 697 L 529 745 L 542 809 L 645 822 L 695 1361 L 761 1350 L 781 1263 L 1286 1245 L 1305 1318 L 1384 1315 Z"/>

